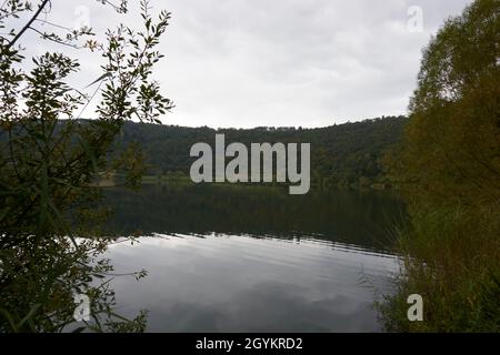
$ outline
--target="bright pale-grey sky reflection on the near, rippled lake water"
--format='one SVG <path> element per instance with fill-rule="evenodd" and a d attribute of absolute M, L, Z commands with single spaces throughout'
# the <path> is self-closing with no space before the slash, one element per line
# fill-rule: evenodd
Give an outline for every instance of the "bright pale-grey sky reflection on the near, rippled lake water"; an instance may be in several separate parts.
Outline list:
<path fill-rule="evenodd" d="M 117 280 L 120 311 L 150 311 L 159 332 L 373 332 L 376 292 L 396 272 L 390 255 L 302 239 L 146 237 L 111 250 L 117 270 L 150 271 Z"/>

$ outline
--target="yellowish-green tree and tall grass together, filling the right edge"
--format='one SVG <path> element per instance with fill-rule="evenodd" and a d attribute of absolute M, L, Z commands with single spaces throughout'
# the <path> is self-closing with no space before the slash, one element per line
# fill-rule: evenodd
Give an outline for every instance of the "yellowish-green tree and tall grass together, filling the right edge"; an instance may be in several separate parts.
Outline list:
<path fill-rule="evenodd" d="M 381 304 L 391 331 L 500 331 L 500 1 L 477 0 L 423 52 L 401 146 L 389 159 L 411 223 L 399 292 Z M 406 318 L 407 296 L 424 321 Z"/>

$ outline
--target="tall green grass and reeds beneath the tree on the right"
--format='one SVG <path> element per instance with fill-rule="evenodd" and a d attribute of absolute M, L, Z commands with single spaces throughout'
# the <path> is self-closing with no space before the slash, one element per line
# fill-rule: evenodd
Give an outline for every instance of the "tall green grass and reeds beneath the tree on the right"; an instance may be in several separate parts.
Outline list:
<path fill-rule="evenodd" d="M 424 206 L 399 231 L 404 273 L 378 307 L 389 332 L 500 331 L 499 205 Z M 423 322 L 409 322 L 407 297 L 423 297 Z"/>

